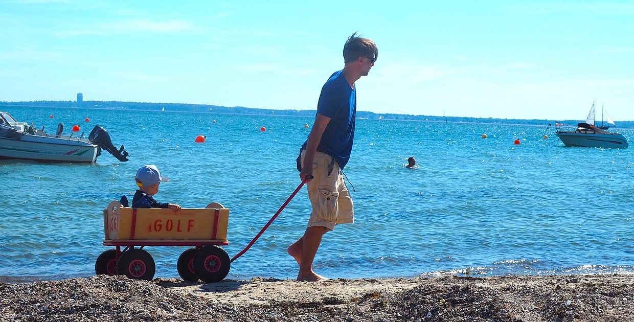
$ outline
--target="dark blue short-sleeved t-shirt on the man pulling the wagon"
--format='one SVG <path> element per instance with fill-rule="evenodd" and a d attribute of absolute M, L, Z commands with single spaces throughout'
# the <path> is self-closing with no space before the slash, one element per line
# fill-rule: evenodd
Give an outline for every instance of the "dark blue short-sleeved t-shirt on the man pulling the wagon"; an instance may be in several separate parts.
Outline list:
<path fill-rule="evenodd" d="M 342 70 L 332 74 L 321 87 L 317 113 L 330 118 L 317 151 L 335 158 L 339 167 L 344 169 L 353 150 L 356 86 L 355 89 L 350 87 Z M 307 142 L 302 145 L 303 149 L 306 149 Z"/>

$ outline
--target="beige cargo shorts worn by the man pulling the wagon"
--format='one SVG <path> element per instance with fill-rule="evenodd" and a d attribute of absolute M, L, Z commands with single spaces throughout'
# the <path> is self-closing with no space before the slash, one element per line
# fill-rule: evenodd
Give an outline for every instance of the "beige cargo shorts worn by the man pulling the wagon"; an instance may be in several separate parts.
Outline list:
<path fill-rule="evenodd" d="M 304 164 L 302 151 L 301 164 Z M 313 179 L 307 184 L 313 211 L 308 227 L 321 226 L 330 230 L 337 224 L 354 222 L 353 200 L 339 171 L 339 164 L 326 153 L 316 151 L 313 158 Z"/>

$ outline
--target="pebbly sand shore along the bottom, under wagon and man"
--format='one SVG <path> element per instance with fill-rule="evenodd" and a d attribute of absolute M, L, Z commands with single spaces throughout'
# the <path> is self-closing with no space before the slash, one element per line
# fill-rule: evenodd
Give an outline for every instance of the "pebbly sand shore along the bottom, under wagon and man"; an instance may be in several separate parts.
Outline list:
<path fill-rule="evenodd" d="M 634 321 L 634 275 L 0 284 L 0 321 Z"/>

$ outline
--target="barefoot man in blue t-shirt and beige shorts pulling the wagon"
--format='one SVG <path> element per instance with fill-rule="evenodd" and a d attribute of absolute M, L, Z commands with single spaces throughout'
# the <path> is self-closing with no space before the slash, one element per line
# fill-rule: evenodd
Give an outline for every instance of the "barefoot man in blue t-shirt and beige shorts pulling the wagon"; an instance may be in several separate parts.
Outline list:
<path fill-rule="evenodd" d="M 356 86 L 378 57 L 377 45 L 356 32 L 344 45 L 344 69 L 335 72 L 321 88 L 317 113 L 308 139 L 302 145 L 297 166 L 307 179 L 313 211 L 304 236 L 288 247 L 299 264 L 299 281 L 323 281 L 313 271 L 313 260 L 321 237 L 337 224 L 354 222 L 353 200 L 340 169 L 344 169 L 353 147 L 356 117 Z M 308 179 L 313 176 L 314 178 Z"/>

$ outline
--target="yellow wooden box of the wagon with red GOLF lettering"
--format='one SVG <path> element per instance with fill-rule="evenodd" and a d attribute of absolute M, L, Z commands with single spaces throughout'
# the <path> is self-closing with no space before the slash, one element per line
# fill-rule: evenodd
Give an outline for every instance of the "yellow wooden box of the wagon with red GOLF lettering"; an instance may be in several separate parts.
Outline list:
<path fill-rule="evenodd" d="M 222 207 L 210 203 L 207 207 Z M 105 240 L 224 240 L 227 241 L 229 209 L 187 209 L 122 207 L 110 202 L 104 210 Z M 214 226 L 217 216 L 217 227 Z M 134 229 L 134 231 L 133 231 Z M 215 236 L 214 236 L 215 234 Z"/>

